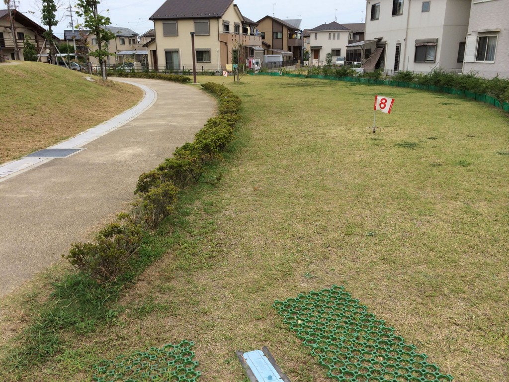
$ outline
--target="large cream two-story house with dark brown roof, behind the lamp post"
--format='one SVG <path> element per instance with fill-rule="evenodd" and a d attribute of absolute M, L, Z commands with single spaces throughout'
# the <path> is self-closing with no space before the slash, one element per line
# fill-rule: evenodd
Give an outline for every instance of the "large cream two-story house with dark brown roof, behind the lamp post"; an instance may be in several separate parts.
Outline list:
<path fill-rule="evenodd" d="M 221 70 L 260 54 L 257 24 L 245 18 L 233 0 L 166 0 L 150 20 L 154 21 L 155 40 L 145 46 L 150 50 L 151 67 L 189 68 L 194 57 L 200 67 Z"/>

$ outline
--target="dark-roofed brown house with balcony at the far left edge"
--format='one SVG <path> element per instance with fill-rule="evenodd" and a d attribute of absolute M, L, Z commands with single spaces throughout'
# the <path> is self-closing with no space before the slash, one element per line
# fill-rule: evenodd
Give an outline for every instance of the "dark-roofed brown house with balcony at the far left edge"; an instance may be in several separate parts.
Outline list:
<path fill-rule="evenodd" d="M 49 43 L 45 42 L 44 32 L 46 30 L 42 26 L 17 10 L 0 9 L 0 62 L 6 60 L 24 61 L 23 46 L 26 36 L 35 45 L 38 53 L 42 48 L 44 48 L 43 53 L 46 53 Z M 53 39 L 55 44 L 58 44 L 58 37 L 53 36 Z M 46 57 L 47 54 L 42 56 L 42 61 L 46 61 Z"/>

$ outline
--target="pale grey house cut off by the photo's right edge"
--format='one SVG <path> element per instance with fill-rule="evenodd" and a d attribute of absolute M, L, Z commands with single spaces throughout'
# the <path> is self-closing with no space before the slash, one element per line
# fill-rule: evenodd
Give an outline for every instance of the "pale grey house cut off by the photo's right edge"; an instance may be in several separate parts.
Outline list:
<path fill-rule="evenodd" d="M 509 0 L 473 0 L 463 72 L 509 78 Z"/>

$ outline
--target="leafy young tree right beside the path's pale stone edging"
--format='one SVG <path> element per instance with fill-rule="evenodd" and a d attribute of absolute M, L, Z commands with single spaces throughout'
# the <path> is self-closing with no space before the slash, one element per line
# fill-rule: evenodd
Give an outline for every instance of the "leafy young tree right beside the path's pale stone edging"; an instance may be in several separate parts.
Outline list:
<path fill-rule="evenodd" d="M 99 61 L 102 79 L 106 80 L 106 57 L 111 54 L 108 51 L 108 41 L 114 40 L 116 36 L 105 29 L 105 25 L 109 25 L 111 22 L 109 17 L 99 14 L 97 10 L 99 4 L 98 0 L 78 0 L 77 8 L 79 10 L 76 11 L 76 15 L 84 18 L 84 28 L 96 36 L 98 49 L 90 51 L 90 55 Z"/>

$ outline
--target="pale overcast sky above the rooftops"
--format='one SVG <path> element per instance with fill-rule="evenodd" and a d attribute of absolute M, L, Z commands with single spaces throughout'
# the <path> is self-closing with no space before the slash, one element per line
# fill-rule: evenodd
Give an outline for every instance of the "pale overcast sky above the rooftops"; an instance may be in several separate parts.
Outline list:
<path fill-rule="evenodd" d="M 64 8 L 69 7 L 69 0 L 55 0 L 55 3 L 65 2 L 59 16 L 69 14 Z M 186 0 L 182 0 L 186 1 Z M 42 25 L 40 20 L 40 0 L 16 0 L 18 10 Z M 144 34 L 154 27 L 154 23 L 149 17 L 157 11 L 164 3 L 163 0 L 102 0 L 99 5 L 99 11 L 104 16 L 109 16 L 111 25 L 123 26 L 129 28 L 138 34 Z M 76 9 L 76 0 L 70 0 L 73 8 L 73 15 Z M 301 29 L 312 29 L 323 23 L 329 23 L 337 18 L 338 23 L 364 22 L 366 1 L 365 0 L 320 0 L 316 3 L 309 0 L 234 0 L 242 14 L 251 20 L 258 21 L 264 16 L 274 15 L 282 20 L 302 19 Z M 310 6 L 314 4 L 316 6 Z M 34 13 L 30 13 L 34 12 Z M 76 24 L 76 15 L 74 24 Z M 79 18 L 78 18 L 79 20 Z M 82 21 L 82 20 L 79 20 Z M 63 38 L 64 29 L 71 29 L 68 25 L 71 22 L 70 17 L 65 17 L 53 33 Z"/>

